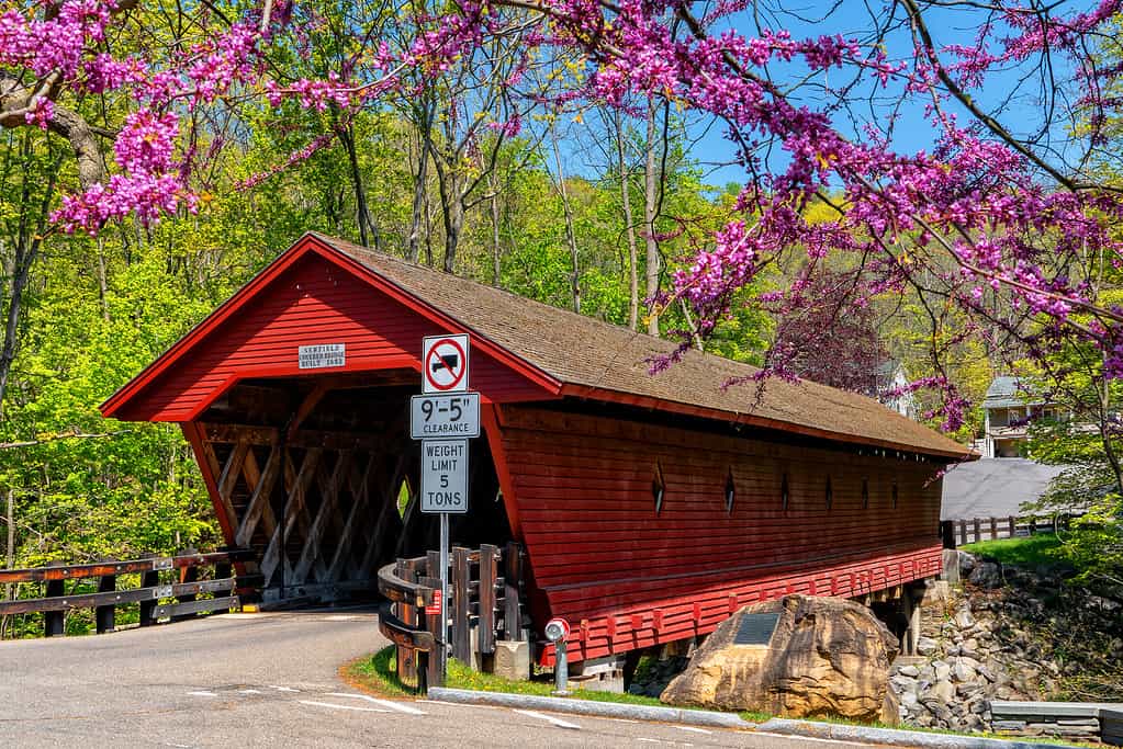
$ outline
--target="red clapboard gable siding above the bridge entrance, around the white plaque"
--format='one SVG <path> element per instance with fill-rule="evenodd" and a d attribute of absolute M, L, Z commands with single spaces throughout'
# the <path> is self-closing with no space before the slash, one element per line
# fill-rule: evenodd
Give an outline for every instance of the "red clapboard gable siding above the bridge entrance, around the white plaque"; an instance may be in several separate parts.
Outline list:
<path fill-rule="evenodd" d="M 421 339 L 442 332 L 449 331 L 350 271 L 309 253 L 195 343 L 190 357 L 148 382 L 115 416 L 191 420 L 236 378 L 419 368 Z M 346 369 L 300 370 L 298 346 L 317 343 L 345 343 Z M 472 387 L 496 403 L 550 397 L 478 349 L 472 352 Z"/>

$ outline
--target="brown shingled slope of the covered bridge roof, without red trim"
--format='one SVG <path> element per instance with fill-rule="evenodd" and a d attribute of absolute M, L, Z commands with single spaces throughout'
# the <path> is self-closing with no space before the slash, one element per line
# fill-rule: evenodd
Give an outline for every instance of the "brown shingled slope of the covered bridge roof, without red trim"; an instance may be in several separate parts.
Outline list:
<path fill-rule="evenodd" d="M 857 394 L 772 378 L 758 400 L 755 385 L 724 387 L 758 370 L 721 357 L 692 350 L 666 371 L 650 374 L 650 359 L 670 353 L 675 343 L 332 237 L 311 235 L 557 380 L 563 395 L 947 459 L 971 456 L 959 443 Z"/>

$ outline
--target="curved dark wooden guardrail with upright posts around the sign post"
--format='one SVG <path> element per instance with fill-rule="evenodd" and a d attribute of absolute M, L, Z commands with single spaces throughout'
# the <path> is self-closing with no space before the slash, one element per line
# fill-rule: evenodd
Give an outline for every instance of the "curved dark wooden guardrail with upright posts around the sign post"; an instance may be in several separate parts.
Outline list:
<path fill-rule="evenodd" d="M 500 574 L 502 572 L 502 574 Z M 522 622 L 522 549 L 484 544 L 478 551 L 454 546 L 449 554 L 449 600 L 444 612 L 451 627 L 449 655 L 487 668 L 497 639 L 526 639 Z M 378 627 L 398 646 L 398 676 L 418 691 L 441 686 L 439 614 L 427 612 L 439 601 L 440 555 L 398 560 L 378 571 L 378 592 L 386 599 Z M 432 610 L 432 609 L 430 609 Z M 473 640 L 472 631 L 476 637 Z M 480 662 L 474 663 L 473 656 Z"/>

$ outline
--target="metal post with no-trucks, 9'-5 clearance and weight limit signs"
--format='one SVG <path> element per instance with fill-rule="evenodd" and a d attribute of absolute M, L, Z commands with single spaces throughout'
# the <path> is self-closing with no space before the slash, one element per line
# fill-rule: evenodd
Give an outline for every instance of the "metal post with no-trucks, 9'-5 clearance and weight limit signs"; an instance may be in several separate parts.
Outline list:
<path fill-rule="evenodd" d="M 448 516 L 468 511 L 468 437 L 480 436 L 480 394 L 468 392 L 466 334 L 421 342 L 421 391 L 410 403 L 410 433 L 421 441 L 421 511 L 440 515 L 441 675 L 448 662 Z"/>

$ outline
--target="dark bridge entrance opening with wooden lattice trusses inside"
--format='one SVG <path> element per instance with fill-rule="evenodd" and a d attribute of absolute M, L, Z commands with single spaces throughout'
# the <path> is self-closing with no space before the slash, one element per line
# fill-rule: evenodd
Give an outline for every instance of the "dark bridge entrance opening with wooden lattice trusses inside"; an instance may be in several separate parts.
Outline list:
<path fill-rule="evenodd" d="M 412 368 L 245 379 L 184 424 L 214 477 L 223 533 L 254 551 L 266 600 L 374 595 L 382 565 L 437 547 L 409 435 L 418 380 Z M 471 510 L 453 517 L 453 538 L 503 544 L 487 442 L 472 443 Z"/>

